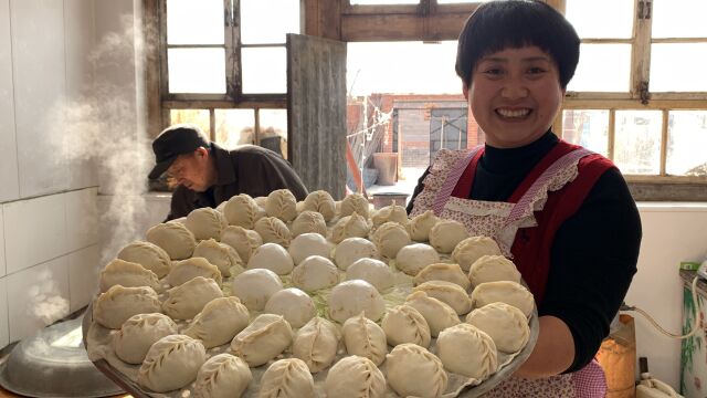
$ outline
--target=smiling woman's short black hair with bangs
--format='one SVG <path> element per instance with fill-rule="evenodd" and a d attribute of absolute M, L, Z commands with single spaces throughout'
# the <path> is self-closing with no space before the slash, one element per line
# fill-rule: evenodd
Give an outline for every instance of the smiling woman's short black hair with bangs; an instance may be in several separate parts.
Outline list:
<path fill-rule="evenodd" d="M 481 4 L 458 39 L 456 74 L 468 87 L 478 60 L 504 49 L 536 45 L 558 66 L 567 87 L 579 61 L 579 36 L 552 7 L 538 0 L 502 0 Z"/>

